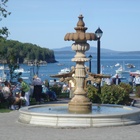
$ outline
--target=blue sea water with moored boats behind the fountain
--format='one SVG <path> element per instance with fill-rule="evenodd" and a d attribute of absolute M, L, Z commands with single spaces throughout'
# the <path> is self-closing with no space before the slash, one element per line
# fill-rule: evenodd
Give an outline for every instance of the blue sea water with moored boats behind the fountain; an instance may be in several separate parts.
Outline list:
<path fill-rule="evenodd" d="M 91 72 L 97 73 L 97 55 L 96 53 L 86 52 L 86 57 L 92 55 L 91 59 Z M 51 75 L 58 74 L 62 69 L 71 68 L 72 66 L 76 66 L 76 63 L 72 61 L 74 58 L 75 52 L 70 53 L 60 53 L 55 52 L 55 59 L 57 63 L 48 63 L 47 65 L 41 65 L 38 68 L 39 77 L 45 81 L 46 79 L 52 81 L 54 78 Z M 126 71 L 134 72 L 136 70 L 140 70 L 140 55 L 135 53 L 103 53 L 100 56 L 101 63 L 101 73 L 104 75 L 115 75 L 116 70 L 122 66 Z M 116 64 L 120 64 L 119 66 L 115 66 Z M 134 68 L 127 68 L 126 64 L 133 64 Z M 1 64 L 2 66 L 2 64 Z M 89 67 L 89 62 L 85 62 L 85 66 Z M 23 79 L 31 83 L 34 73 L 37 72 L 36 66 L 28 66 L 26 64 L 20 64 L 20 67 L 25 71 L 30 71 L 30 73 L 23 73 Z M 0 71 L 0 76 L 2 75 L 2 71 Z M 122 75 L 125 82 L 128 82 L 129 73 Z M 56 78 L 57 79 L 57 78 Z M 59 80 L 59 79 L 57 79 Z"/>

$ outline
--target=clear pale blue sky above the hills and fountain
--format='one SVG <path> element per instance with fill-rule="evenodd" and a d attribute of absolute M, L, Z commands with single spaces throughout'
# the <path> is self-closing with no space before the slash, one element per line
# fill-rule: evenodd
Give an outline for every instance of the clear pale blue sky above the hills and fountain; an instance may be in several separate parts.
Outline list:
<path fill-rule="evenodd" d="M 86 32 L 103 31 L 101 48 L 140 51 L 140 0 L 9 0 L 7 6 L 11 15 L 0 26 L 9 29 L 8 39 L 49 49 L 71 46 L 64 37 L 76 32 L 82 14 Z"/>

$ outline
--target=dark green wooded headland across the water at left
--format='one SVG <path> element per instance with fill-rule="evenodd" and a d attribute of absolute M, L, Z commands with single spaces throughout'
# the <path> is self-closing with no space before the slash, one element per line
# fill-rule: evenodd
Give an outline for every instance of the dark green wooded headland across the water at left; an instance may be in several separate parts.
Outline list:
<path fill-rule="evenodd" d="M 0 39 L 0 59 L 11 60 L 12 56 L 19 59 L 19 63 L 46 61 L 55 62 L 53 50 L 41 48 L 31 43 L 21 43 L 13 40 L 1 41 Z"/>

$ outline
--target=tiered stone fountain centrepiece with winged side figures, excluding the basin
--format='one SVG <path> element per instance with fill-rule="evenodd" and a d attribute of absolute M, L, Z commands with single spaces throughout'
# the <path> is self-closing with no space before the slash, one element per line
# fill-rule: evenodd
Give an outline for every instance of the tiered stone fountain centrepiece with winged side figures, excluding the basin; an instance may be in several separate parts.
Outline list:
<path fill-rule="evenodd" d="M 68 109 L 74 113 L 89 113 L 92 110 L 92 103 L 87 98 L 87 92 L 85 91 L 87 82 L 100 83 L 101 78 L 109 77 L 100 74 L 89 73 L 88 68 L 85 67 L 85 62 L 89 61 L 86 58 L 85 52 L 90 49 L 90 45 L 87 41 L 97 40 L 94 33 L 86 33 L 87 27 L 83 21 L 83 16 L 79 16 L 77 27 L 75 27 L 76 33 L 67 33 L 64 40 L 75 41 L 72 44 L 72 50 L 76 52 L 76 55 L 72 61 L 76 62 L 76 67 L 72 68 L 72 71 L 67 74 L 58 74 L 51 77 L 61 78 L 61 81 L 69 81 L 72 79 L 75 83 L 74 97 L 69 102 Z M 74 77 L 72 77 L 74 74 Z"/>

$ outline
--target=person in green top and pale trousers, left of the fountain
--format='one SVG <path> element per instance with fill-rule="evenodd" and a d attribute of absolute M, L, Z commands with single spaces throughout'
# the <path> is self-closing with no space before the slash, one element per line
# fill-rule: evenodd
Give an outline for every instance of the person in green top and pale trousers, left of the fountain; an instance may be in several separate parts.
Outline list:
<path fill-rule="evenodd" d="M 25 105 L 29 106 L 30 105 L 30 86 L 23 81 L 22 78 L 18 79 L 18 82 L 20 83 L 20 90 L 22 94 L 24 93 L 24 99 L 25 99 Z"/>

